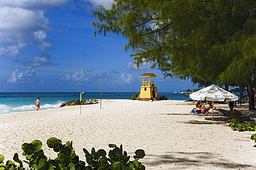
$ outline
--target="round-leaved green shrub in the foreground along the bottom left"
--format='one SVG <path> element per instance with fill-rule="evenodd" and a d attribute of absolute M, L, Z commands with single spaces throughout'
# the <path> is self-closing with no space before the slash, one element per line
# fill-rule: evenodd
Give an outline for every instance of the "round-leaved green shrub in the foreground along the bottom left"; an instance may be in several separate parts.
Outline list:
<path fill-rule="evenodd" d="M 62 144 L 62 140 L 57 138 L 49 138 L 46 142 L 49 148 L 57 152 L 57 158 L 51 159 L 44 155 L 42 150 L 42 142 L 40 140 L 33 140 L 31 143 L 24 143 L 21 149 L 24 151 L 22 156 L 26 157 L 24 162 L 28 164 L 29 169 L 55 169 L 55 170 L 91 170 L 91 169 L 133 169 L 144 170 L 145 166 L 138 162 L 140 158 L 144 158 L 145 151 L 138 149 L 135 152 L 134 160 L 131 161 L 130 156 L 127 156 L 126 151 L 122 151 L 122 145 L 116 147 L 116 145 L 109 145 L 113 150 L 109 151 L 109 158 L 107 158 L 107 152 L 103 149 L 95 151 L 91 149 L 91 153 L 86 149 L 83 149 L 86 157 L 86 162 L 79 160 L 79 157 L 75 154 L 72 147 L 72 142 L 67 141 Z M 23 162 L 19 160 L 19 156 L 15 153 L 13 160 L 8 160 L 6 164 L 3 163 L 4 156 L 0 155 L 0 170 L 9 169 L 27 169 L 24 167 Z"/>

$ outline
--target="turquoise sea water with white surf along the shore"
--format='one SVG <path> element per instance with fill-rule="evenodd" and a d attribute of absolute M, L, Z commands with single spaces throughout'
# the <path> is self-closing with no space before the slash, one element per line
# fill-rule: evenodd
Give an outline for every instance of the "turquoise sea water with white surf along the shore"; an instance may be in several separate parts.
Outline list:
<path fill-rule="evenodd" d="M 102 99 L 131 99 L 131 96 L 139 92 L 102 92 Z M 188 100 L 185 94 L 159 93 L 159 96 L 167 96 L 172 100 Z M 60 104 L 71 100 L 79 100 L 80 93 L 77 92 L 51 92 L 51 93 L 1 93 L 0 114 L 7 114 L 13 111 L 35 110 L 35 100 L 40 98 L 41 109 L 53 109 L 60 107 Z M 82 100 L 100 99 L 100 92 L 89 92 L 82 95 Z"/>

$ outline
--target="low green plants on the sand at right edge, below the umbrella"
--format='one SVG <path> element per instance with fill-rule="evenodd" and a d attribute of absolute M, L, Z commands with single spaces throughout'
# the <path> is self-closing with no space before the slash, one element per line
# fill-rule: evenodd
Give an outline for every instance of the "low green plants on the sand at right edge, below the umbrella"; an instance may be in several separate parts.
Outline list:
<path fill-rule="evenodd" d="M 235 117 L 230 120 L 228 120 L 229 126 L 234 131 L 256 131 L 256 123 L 244 123 L 244 120 L 240 117 Z"/>

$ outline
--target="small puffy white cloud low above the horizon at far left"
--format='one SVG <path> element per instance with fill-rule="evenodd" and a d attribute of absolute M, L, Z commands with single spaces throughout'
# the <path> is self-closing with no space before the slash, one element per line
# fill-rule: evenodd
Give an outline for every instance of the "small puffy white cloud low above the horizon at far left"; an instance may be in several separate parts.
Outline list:
<path fill-rule="evenodd" d="M 26 72 L 20 72 L 19 70 L 15 70 L 10 75 L 8 79 L 8 83 L 32 83 L 35 82 L 37 78 L 37 74 L 33 67 L 29 67 Z"/>

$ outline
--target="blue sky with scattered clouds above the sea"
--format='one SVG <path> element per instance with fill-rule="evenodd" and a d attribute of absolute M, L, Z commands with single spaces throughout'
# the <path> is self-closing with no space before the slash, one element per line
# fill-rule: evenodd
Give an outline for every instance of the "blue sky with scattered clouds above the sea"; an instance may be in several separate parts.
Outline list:
<path fill-rule="evenodd" d="M 112 0 L 1 0 L 0 92 L 139 92 L 143 73 L 159 92 L 196 89 L 163 78 L 149 64 L 137 69 L 127 39 L 93 36 L 91 11 Z"/>

